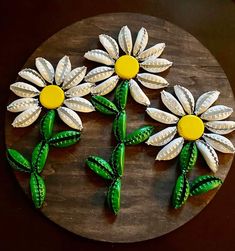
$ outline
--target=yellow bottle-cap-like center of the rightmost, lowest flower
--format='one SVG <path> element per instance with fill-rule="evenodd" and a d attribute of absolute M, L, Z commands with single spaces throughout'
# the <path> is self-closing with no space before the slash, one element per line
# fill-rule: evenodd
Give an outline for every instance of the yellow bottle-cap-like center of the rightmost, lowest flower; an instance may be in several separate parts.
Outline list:
<path fill-rule="evenodd" d="M 202 120 L 195 115 L 182 117 L 177 125 L 178 133 L 186 140 L 197 140 L 204 132 Z"/>

